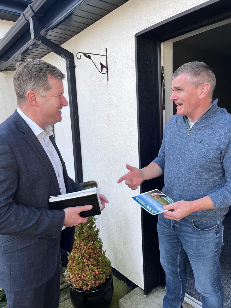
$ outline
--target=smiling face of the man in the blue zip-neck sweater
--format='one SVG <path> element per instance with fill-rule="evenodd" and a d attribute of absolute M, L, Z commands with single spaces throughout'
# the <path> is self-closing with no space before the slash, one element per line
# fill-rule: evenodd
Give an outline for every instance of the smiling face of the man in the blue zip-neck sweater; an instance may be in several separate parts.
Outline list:
<path fill-rule="evenodd" d="M 187 115 L 191 121 L 196 121 L 201 107 L 201 88 L 194 88 L 188 82 L 188 75 L 182 74 L 172 79 L 172 95 L 170 99 L 176 104 L 177 115 Z"/>

